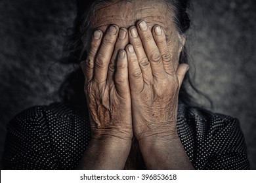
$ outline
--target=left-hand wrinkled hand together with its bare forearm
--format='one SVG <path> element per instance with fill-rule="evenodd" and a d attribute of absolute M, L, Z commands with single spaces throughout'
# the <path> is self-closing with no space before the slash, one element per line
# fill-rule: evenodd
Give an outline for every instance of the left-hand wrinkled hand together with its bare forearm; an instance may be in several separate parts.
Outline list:
<path fill-rule="evenodd" d="M 86 61 L 85 95 L 91 141 L 79 169 L 123 169 L 131 148 L 133 125 L 126 52 L 127 29 L 96 30 Z"/>

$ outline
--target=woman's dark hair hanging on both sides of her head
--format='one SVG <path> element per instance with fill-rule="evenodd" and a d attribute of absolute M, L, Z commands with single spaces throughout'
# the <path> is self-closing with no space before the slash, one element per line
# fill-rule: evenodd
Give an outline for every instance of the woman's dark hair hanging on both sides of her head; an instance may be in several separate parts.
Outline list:
<path fill-rule="evenodd" d="M 129 1 L 129 0 L 120 0 L 120 1 Z M 136 0 L 135 0 L 136 1 Z M 102 5 L 102 3 L 110 3 L 111 0 L 77 0 L 77 16 L 74 22 L 74 32 L 69 37 L 69 44 L 66 46 L 68 50 L 68 58 L 62 63 L 73 63 L 77 65 L 77 69 L 73 73 L 67 76 L 66 80 L 63 82 L 60 87 L 59 93 L 60 97 L 64 102 L 69 103 L 73 107 L 79 108 L 86 107 L 85 105 L 85 96 L 83 92 L 84 78 L 83 72 L 79 67 L 79 63 L 82 59 L 87 57 L 85 52 L 85 42 L 89 42 L 89 23 L 90 18 L 93 16 L 95 7 Z M 188 16 L 187 9 L 190 5 L 189 0 L 163 0 L 167 3 L 169 7 L 174 11 L 174 21 L 177 25 L 177 30 L 180 34 L 186 33 L 190 27 L 190 18 Z M 188 63 L 188 56 L 186 52 L 186 46 L 183 47 L 179 63 Z M 182 83 L 181 90 L 179 93 L 179 102 L 183 103 L 186 106 L 196 106 L 196 102 L 187 91 L 187 87 L 191 86 L 197 93 L 199 92 L 190 80 L 190 76 L 187 73 L 184 82 Z M 82 102 L 83 101 L 83 102 Z"/>

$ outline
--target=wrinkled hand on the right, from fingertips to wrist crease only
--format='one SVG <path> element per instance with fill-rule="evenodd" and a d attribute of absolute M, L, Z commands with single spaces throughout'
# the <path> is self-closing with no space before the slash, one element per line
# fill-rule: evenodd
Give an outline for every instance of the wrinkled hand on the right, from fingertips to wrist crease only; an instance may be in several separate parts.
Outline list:
<path fill-rule="evenodd" d="M 159 25 L 152 32 L 144 21 L 129 28 L 127 58 L 131 88 L 133 131 L 140 139 L 178 137 L 177 105 L 179 88 L 188 65 L 175 71 L 165 33 Z"/>

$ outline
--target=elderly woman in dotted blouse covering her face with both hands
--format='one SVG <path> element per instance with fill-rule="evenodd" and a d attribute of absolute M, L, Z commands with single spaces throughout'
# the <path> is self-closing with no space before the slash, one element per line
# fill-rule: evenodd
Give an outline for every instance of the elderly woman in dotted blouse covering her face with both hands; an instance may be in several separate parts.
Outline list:
<path fill-rule="evenodd" d="M 69 61 L 81 67 L 63 103 L 10 122 L 5 169 L 249 169 L 238 120 L 193 107 L 182 84 L 187 7 L 77 1 Z"/>

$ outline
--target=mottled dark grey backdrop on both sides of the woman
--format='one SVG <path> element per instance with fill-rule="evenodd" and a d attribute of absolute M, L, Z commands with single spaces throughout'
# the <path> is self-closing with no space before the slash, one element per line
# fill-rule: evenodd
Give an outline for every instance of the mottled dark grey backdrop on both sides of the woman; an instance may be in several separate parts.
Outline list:
<path fill-rule="evenodd" d="M 251 169 L 256 169 L 256 2 L 193 2 L 187 35 L 194 80 L 214 112 L 240 120 Z M 0 1 L 0 155 L 6 124 L 32 105 L 58 100 L 56 90 L 72 66 L 61 65 L 64 35 L 75 1 Z M 202 105 L 209 103 L 195 95 Z"/>

